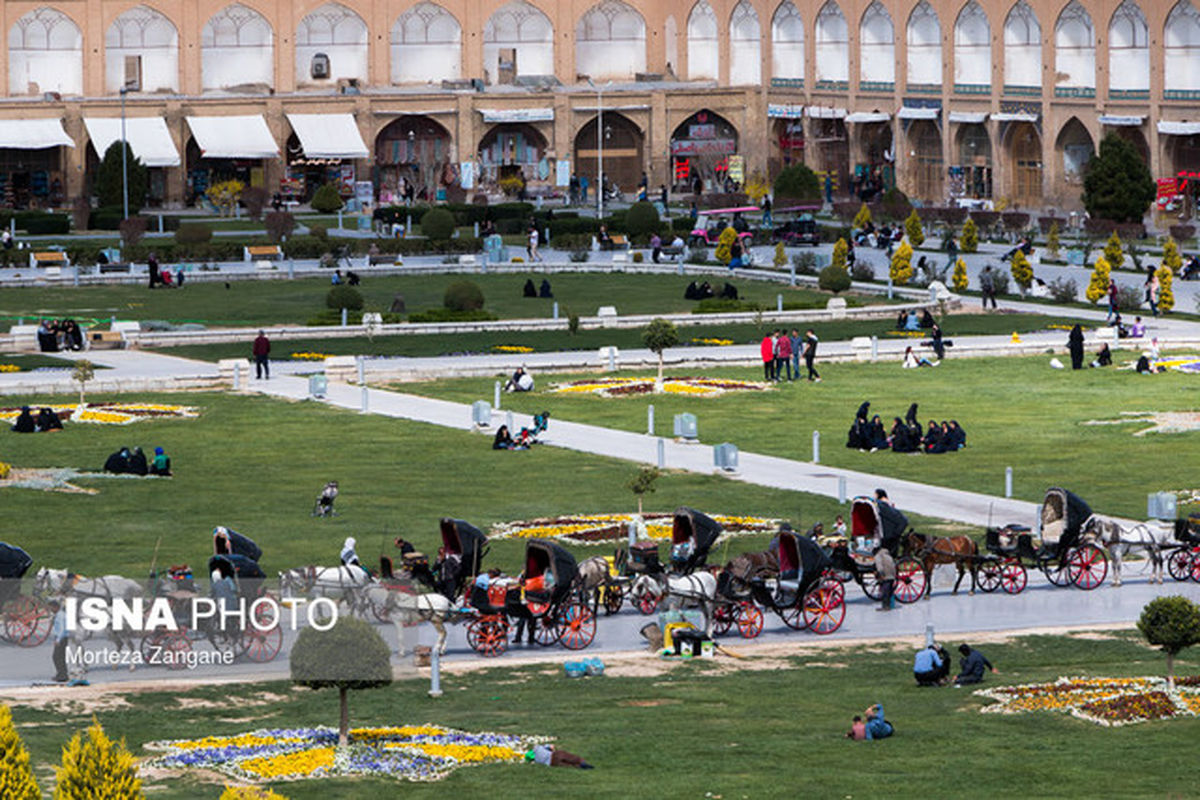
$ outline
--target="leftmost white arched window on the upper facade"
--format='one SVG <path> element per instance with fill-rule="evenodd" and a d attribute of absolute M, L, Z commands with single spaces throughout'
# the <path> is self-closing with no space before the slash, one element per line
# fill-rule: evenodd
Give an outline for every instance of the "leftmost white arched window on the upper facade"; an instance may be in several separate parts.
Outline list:
<path fill-rule="evenodd" d="M 54 8 L 36 8 L 8 31 L 8 94 L 83 94 L 83 34 Z"/>

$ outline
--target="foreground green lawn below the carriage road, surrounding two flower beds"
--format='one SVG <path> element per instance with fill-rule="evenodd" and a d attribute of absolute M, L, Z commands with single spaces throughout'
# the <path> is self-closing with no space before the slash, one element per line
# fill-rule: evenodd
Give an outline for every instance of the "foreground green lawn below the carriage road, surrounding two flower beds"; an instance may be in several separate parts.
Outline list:
<path fill-rule="evenodd" d="M 805 634 L 796 634 L 797 642 Z M 948 643 L 952 644 L 953 643 Z M 1021 637 L 980 649 L 1000 668 L 986 685 L 1058 676 L 1163 673 L 1163 656 L 1130 633 Z M 956 656 L 956 654 L 955 654 Z M 955 658 L 956 662 L 956 658 Z M 642 664 L 654 669 L 652 656 Z M 744 667 L 737 669 L 737 667 Z M 745 662 L 664 664 L 662 674 L 569 680 L 557 666 L 499 667 L 444 675 L 444 697 L 427 680 L 350 693 L 352 724 L 438 723 L 466 730 L 554 736 L 596 769 L 526 764 L 461 768 L 437 783 L 384 778 L 276 784 L 293 800 L 490 796 L 547 798 L 1181 798 L 1195 794 L 1195 765 L 1181 742 L 1200 720 L 1181 717 L 1103 728 L 1066 714 L 980 714 L 990 704 L 962 688 L 918 688 L 912 645 L 884 643 L 752 656 Z M 1184 652 L 1178 674 L 1200 668 Z M 91 722 L 72 703 L 18 705 L 14 721 L 43 792 L 66 740 Z M 332 690 L 286 684 L 220 685 L 125 693 L 101 709 L 106 732 L 137 756 L 158 739 L 233 734 L 265 727 L 332 724 Z M 896 733 L 876 742 L 844 738 L 851 716 L 883 704 Z M 148 780 L 148 795 L 216 798 L 221 777 L 184 771 Z M 919 790 L 917 789 L 919 787 Z"/>

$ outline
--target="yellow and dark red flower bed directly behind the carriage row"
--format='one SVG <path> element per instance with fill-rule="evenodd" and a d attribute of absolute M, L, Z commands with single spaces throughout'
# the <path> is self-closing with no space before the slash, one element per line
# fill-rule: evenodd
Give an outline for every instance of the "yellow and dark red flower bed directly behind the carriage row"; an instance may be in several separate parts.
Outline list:
<path fill-rule="evenodd" d="M 492 539 L 557 539 L 570 545 L 599 545 L 624 540 L 629 530 L 629 513 L 590 513 L 565 517 L 541 517 L 504 522 L 492 527 Z M 670 513 L 644 513 L 646 535 L 650 539 L 671 539 L 674 519 Z M 726 536 L 770 533 L 779 528 L 779 519 L 767 517 L 734 517 L 715 515 Z"/>

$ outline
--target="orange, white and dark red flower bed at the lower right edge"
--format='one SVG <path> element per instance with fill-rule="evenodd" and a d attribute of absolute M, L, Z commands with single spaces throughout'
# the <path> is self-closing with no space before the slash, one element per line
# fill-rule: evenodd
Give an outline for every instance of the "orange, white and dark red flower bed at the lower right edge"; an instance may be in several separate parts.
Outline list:
<path fill-rule="evenodd" d="M 1181 678 L 1168 691 L 1163 678 L 1060 678 L 1050 684 L 1026 684 L 979 690 L 998 700 L 985 714 L 1063 711 L 1106 727 L 1176 716 L 1200 716 L 1200 675 Z"/>

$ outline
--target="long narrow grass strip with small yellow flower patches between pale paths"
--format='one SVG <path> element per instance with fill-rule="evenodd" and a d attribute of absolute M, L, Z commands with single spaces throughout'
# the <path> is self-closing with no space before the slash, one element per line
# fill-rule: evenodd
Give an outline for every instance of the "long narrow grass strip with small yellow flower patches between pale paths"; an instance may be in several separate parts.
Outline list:
<path fill-rule="evenodd" d="M 1042 314 L 954 314 L 943 321 L 948 331 L 955 336 L 1007 335 L 1013 331 L 1028 333 L 1045 330 L 1048 325 L 1070 325 L 1075 320 L 1064 317 L 1046 317 Z M 1085 324 L 1085 326 L 1088 326 Z M 685 347 L 704 345 L 701 339 L 725 339 L 734 344 L 756 344 L 762 341 L 769 325 L 697 325 L 680 327 L 680 341 Z M 802 326 L 803 327 L 803 326 Z M 901 338 L 894 330 L 895 321 L 888 319 L 842 320 L 821 323 L 821 338 L 824 342 L 836 342 L 856 336 L 878 336 L 881 339 Z M 641 329 L 599 329 L 581 330 L 571 335 L 566 331 L 526 331 L 494 333 L 454 333 L 436 335 L 395 335 L 367 338 L 306 338 L 277 342 L 274 350 L 276 357 L 287 357 L 289 353 L 324 353 L 326 355 L 378 355 L 378 356 L 434 356 L 456 353 L 488 353 L 502 345 L 521 345 L 533 348 L 539 353 L 556 350 L 595 350 L 601 347 L 616 345 L 623 350 L 643 348 Z M 217 361 L 245 356 L 247 344 L 234 342 L 227 344 L 193 344 L 163 348 L 162 353 L 185 359 Z"/>

